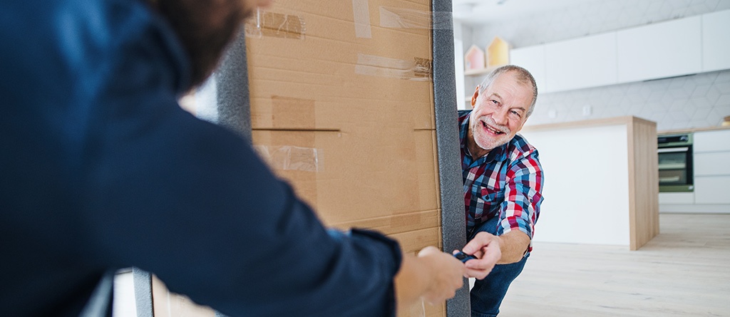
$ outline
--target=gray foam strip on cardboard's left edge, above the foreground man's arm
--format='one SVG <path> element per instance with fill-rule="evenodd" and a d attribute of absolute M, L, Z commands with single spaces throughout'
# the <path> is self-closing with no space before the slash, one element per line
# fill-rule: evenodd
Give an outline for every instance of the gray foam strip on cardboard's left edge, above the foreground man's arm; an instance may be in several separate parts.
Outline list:
<path fill-rule="evenodd" d="M 251 143 L 251 108 L 246 61 L 246 36 L 240 29 L 237 39 L 228 46 L 215 79 L 218 85 L 218 124 L 233 130 Z"/>

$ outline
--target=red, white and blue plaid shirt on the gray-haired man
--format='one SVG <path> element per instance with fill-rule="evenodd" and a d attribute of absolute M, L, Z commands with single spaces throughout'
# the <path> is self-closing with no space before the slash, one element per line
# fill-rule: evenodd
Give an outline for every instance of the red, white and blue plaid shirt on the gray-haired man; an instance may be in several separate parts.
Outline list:
<path fill-rule="evenodd" d="M 520 230 L 531 240 L 542 203 L 542 167 L 537 149 L 516 135 L 475 160 L 466 148 L 471 110 L 458 112 L 466 235 L 479 224 L 499 216 L 497 235 Z M 532 243 L 528 251 L 531 250 Z"/>

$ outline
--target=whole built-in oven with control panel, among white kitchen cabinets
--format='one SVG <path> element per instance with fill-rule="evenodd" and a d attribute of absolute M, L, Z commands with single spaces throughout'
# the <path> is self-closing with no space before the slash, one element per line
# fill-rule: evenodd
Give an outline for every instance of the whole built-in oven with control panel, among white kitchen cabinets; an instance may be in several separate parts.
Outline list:
<path fill-rule="evenodd" d="M 692 134 L 658 136 L 659 192 L 694 192 Z"/>

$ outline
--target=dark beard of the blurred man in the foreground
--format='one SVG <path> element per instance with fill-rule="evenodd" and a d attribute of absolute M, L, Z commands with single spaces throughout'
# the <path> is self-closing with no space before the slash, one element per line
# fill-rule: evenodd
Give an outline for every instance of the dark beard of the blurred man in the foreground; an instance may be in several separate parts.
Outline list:
<path fill-rule="evenodd" d="M 223 50 L 252 10 L 240 0 L 158 0 L 153 4 L 172 25 L 191 58 L 196 87 L 218 66 Z"/>

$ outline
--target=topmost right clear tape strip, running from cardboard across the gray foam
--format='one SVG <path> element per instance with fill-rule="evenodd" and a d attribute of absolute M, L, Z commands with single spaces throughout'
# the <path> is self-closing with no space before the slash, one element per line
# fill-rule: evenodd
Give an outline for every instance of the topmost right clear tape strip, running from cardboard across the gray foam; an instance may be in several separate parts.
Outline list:
<path fill-rule="evenodd" d="M 451 12 L 431 12 L 415 9 L 380 7 L 380 26 L 383 28 L 426 28 L 453 30 Z"/>

